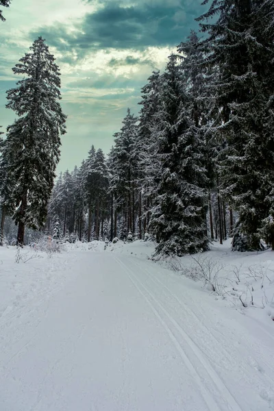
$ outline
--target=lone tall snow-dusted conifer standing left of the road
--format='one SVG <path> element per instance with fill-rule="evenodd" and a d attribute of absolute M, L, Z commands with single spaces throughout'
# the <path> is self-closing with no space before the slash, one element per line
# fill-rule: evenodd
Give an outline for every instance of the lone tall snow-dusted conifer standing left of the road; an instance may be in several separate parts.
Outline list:
<path fill-rule="evenodd" d="M 30 51 L 12 69 L 24 78 L 8 90 L 7 97 L 7 108 L 20 116 L 8 127 L 6 157 L 9 205 L 21 245 L 25 225 L 38 229 L 45 222 L 66 121 L 58 101 L 60 72 L 53 55 L 42 37 L 34 41 Z"/>

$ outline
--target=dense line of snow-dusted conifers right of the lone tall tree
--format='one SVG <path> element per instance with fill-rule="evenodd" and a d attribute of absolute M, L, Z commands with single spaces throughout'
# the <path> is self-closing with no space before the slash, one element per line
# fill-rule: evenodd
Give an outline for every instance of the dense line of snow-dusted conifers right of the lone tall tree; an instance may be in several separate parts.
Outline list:
<path fill-rule="evenodd" d="M 213 0 L 197 18 L 201 34 L 151 73 L 110 153 L 92 146 L 49 185 L 33 226 L 88 241 L 149 232 L 158 256 L 206 251 L 227 236 L 234 250 L 274 249 L 273 17 L 274 1 Z M 22 197 L 12 206 L 7 187 L 2 208 L 19 223 Z"/>

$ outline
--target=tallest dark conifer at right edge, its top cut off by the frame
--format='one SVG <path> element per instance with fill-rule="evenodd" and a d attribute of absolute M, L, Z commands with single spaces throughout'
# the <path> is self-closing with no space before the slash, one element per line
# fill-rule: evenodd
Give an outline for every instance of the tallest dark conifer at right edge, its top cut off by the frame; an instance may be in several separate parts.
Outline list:
<path fill-rule="evenodd" d="M 206 65 L 218 68 L 212 131 L 221 147 L 221 195 L 239 213 L 233 248 L 240 251 L 260 249 L 263 221 L 271 214 L 265 200 L 274 182 L 273 16 L 272 0 L 214 0 L 199 18 L 208 33 Z"/>

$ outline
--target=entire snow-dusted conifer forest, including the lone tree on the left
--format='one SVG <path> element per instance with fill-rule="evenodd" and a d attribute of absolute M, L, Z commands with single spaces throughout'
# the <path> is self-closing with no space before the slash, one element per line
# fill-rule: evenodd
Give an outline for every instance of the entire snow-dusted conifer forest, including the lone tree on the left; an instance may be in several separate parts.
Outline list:
<path fill-rule="evenodd" d="M 140 111 L 125 107 L 110 152 L 91 145 L 59 176 L 62 67 L 42 36 L 18 55 L 6 104 L 16 119 L 1 133 L 1 244 L 42 232 L 150 237 L 155 258 L 229 237 L 236 251 L 274 249 L 274 1 L 203 4 L 199 31 L 140 90 Z"/>

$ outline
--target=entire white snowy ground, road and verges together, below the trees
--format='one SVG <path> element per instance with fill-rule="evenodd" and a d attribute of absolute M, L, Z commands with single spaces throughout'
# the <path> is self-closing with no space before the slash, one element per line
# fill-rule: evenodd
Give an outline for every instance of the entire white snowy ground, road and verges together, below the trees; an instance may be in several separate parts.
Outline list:
<path fill-rule="evenodd" d="M 274 253 L 152 251 L 0 247 L 1 411 L 274 410 Z"/>

